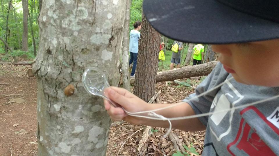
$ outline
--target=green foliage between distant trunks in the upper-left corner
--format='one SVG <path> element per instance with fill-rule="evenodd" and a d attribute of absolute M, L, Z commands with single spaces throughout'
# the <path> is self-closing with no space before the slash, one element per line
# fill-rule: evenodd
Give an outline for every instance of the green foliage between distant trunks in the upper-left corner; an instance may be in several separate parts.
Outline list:
<path fill-rule="evenodd" d="M 6 36 L 6 23 L 7 16 L 9 16 L 8 20 L 8 45 L 11 49 L 21 49 L 22 48 L 22 33 L 23 33 L 23 10 L 22 10 L 22 1 L 21 0 L 13 0 L 12 7 L 10 8 L 10 12 L 8 14 L 8 6 L 10 0 L 2 0 L 3 10 L 0 9 L 0 37 L 5 40 Z M 28 17 L 28 49 L 31 50 L 29 52 L 34 53 L 32 36 L 31 36 L 31 27 L 30 24 L 33 24 L 33 32 L 36 47 L 39 44 L 39 26 L 37 23 L 37 17 L 39 15 L 39 1 L 28 1 L 28 9 L 31 17 Z M 32 21 L 32 23 L 30 23 Z M 4 43 L 0 41 L 0 50 L 4 48 Z M 3 54 L 2 51 L 0 53 Z M 17 52 L 16 52 L 17 53 Z M 20 54 L 19 54 L 20 55 Z M 30 56 L 33 57 L 33 56 Z M 3 59 L 3 58 L 2 58 Z M 6 58 L 4 58 L 6 59 Z"/>

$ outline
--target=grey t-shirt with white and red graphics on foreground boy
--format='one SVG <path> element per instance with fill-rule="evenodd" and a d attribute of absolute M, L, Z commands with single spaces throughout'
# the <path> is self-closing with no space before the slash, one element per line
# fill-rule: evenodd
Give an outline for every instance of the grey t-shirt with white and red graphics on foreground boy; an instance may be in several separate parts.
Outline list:
<path fill-rule="evenodd" d="M 187 100 L 231 78 L 218 63 L 184 101 L 196 114 L 220 111 L 279 94 L 279 87 L 244 85 L 232 79 L 221 88 L 194 100 Z M 202 155 L 279 155 L 279 100 L 201 117 L 206 126 Z M 194 124 L 194 123 L 193 123 Z"/>

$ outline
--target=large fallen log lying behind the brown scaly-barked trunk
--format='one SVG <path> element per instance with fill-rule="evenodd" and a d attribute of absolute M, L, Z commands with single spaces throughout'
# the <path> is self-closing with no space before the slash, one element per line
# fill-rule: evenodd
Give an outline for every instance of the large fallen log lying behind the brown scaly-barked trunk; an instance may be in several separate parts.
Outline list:
<path fill-rule="evenodd" d="M 178 69 L 161 71 L 157 73 L 156 82 L 173 81 L 176 79 L 208 75 L 218 62 L 219 61 L 212 61 L 201 65 L 186 66 Z M 134 84 L 135 78 L 130 79 L 130 82 L 131 84 Z"/>

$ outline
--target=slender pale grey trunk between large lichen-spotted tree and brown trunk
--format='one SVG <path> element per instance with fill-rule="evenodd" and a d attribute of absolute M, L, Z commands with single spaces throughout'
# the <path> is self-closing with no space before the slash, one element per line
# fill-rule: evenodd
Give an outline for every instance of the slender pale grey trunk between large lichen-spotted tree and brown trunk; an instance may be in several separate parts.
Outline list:
<path fill-rule="evenodd" d="M 125 24 L 124 24 L 124 33 L 122 41 L 122 79 L 123 79 L 123 88 L 130 91 L 130 73 L 129 73 L 129 24 L 130 24 L 130 6 L 132 1 L 127 0 L 126 4 L 126 15 L 125 15 Z"/>

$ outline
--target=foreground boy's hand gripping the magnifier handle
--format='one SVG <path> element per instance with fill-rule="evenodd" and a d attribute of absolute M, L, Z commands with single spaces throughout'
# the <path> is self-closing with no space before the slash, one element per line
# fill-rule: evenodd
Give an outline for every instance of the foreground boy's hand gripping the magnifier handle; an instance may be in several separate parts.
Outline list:
<path fill-rule="evenodd" d="M 123 88 L 109 87 L 105 89 L 105 95 L 128 112 L 145 111 L 148 105 L 145 101 Z M 142 124 L 143 118 L 127 115 L 121 107 L 115 108 L 111 106 L 108 100 L 104 100 L 104 105 L 112 120 L 124 120 L 132 124 Z"/>

